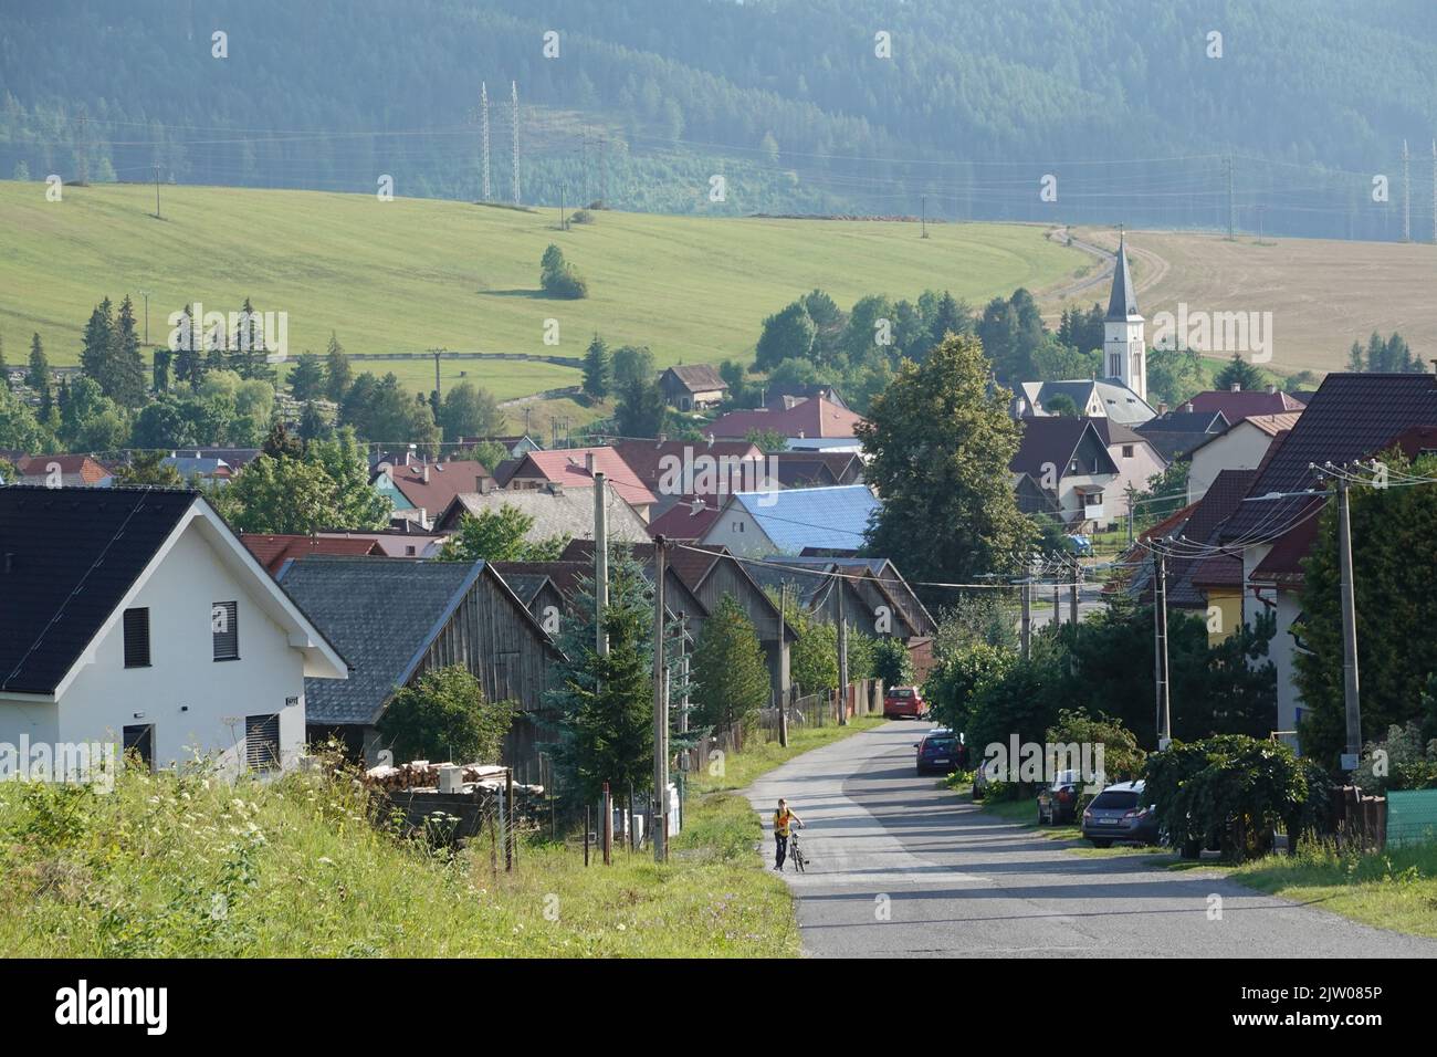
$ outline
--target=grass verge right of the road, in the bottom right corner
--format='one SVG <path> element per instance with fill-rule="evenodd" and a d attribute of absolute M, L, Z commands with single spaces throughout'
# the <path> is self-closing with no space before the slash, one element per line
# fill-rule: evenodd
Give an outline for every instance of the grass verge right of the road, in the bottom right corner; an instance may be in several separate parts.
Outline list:
<path fill-rule="evenodd" d="M 1267 856 L 1232 870 L 1234 880 L 1296 903 L 1437 939 L 1437 844 L 1365 856 L 1332 844 L 1303 844 L 1295 856 Z"/>

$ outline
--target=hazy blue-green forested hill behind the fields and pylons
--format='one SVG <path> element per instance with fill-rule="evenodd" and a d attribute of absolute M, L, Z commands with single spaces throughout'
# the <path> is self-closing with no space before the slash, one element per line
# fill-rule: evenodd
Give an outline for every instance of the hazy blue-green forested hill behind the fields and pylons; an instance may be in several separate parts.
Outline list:
<path fill-rule="evenodd" d="M 481 82 L 496 200 L 514 82 L 529 204 L 1431 233 L 1430 0 L 9 0 L 0 175 L 476 198 Z"/>

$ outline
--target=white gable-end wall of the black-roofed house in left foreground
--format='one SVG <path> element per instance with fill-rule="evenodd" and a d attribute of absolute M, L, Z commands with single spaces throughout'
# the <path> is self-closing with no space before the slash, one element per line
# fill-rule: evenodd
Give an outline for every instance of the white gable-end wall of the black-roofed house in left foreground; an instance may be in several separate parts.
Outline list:
<path fill-rule="evenodd" d="M 198 751 L 234 774 L 244 759 L 244 718 L 279 713 L 282 762 L 293 765 L 305 745 L 305 657 L 249 587 L 190 522 L 129 603 L 149 608 L 151 667 L 125 667 L 118 620 L 59 705 L 0 699 L 0 742 L 19 743 L 22 733 L 32 743 L 118 742 L 125 726 L 148 723 L 155 728 L 157 767 L 193 759 Z M 239 603 L 240 660 L 214 660 L 210 608 L 218 601 Z M 287 697 L 297 705 L 286 708 Z M 137 712 L 144 716 L 137 719 Z"/>

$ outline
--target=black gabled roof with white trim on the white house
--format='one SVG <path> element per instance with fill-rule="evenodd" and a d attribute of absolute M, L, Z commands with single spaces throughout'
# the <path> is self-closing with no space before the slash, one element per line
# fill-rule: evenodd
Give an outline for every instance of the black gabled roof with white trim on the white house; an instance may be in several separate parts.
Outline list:
<path fill-rule="evenodd" d="M 0 692 L 63 692 L 98 634 L 119 618 L 155 559 L 198 521 L 217 561 L 253 577 L 274 623 L 305 637 L 322 682 L 343 679 L 343 659 L 246 551 L 210 503 L 190 489 L 0 489 Z"/>

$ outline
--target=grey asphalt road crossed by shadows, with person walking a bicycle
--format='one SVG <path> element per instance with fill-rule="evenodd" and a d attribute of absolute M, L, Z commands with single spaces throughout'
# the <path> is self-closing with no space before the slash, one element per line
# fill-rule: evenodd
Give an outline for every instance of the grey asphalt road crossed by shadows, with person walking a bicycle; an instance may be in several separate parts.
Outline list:
<path fill-rule="evenodd" d="M 798 894 L 815 956 L 1437 956 L 1437 942 L 1255 893 L 1213 870 L 1088 859 L 914 774 L 927 723 L 894 722 L 798 756 L 747 795 L 808 824 Z M 1221 918 L 1210 916 L 1219 903 Z"/>

